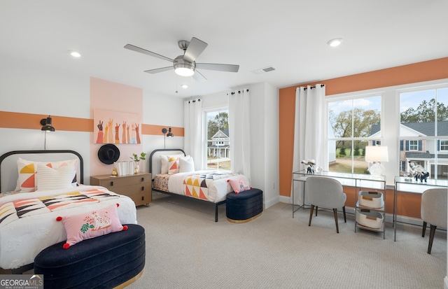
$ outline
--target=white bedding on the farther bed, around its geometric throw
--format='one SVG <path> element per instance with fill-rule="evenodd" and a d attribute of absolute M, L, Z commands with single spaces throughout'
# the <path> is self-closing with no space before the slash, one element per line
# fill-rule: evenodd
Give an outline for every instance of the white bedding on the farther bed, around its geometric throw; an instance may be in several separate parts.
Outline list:
<path fill-rule="evenodd" d="M 194 171 L 189 173 L 178 173 L 173 174 L 169 177 L 168 188 L 169 192 L 174 192 L 178 195 L 186 195 L 184 191 L 183 181 L 189 176 L 195 176 L 197 174 L 222 174 L 223 171 L 213 171 L 213 170 L 204 170 L 204 171 Z M 231 174 L 231 173 L 230 173 Z M 229 192 L 233 192 L 232 187 L 228 183 L 229 178 L 241 178 L 241 174 L 232 174 L 232 176 L 228 176 L 226 178 L 220 178 L 218 180 L 214 180 L 210 183 L 208 188 L 207 201 L 218 203 L 225 200 L 225 196 Z M 245 176 L 243 176 L 245 178 Z M 247 180 L 246 180 L 247 181 Z"/>

